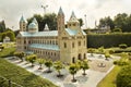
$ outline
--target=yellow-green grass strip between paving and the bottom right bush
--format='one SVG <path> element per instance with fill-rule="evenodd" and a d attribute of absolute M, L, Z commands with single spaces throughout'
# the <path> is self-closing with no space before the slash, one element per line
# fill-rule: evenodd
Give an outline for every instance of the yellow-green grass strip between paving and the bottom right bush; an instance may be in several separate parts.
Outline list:
<path fill-rule="evenodd" d="M 114 70 L 98 83 L 97 87 L 117 87 L 116 86 L 116 76 L 121 70 L 120 66 L 116 65 Z"/>

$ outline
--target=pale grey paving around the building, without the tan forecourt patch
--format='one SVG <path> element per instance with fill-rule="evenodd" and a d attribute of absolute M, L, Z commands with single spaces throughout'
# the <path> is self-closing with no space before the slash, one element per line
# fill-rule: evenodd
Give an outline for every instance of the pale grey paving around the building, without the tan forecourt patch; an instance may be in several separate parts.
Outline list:
<path fill-rule="evenodd" d="M 87 54 L 90 57 L 90 54 Z M 95 54 L 94 58 L 90 58 L 90 60 L 102 60 L 104 59 L 97 59 L 97 55 Z M 39 75 L 44 78 L 47 78 L 48 80 L 52 82 L 53 84 L 60 86 L 60 87 L 96 87 L 96 85 L 114 69 L 114 65 L 111 65 L 108 71 L 106 72 L 100 72 L 100 71 L 95 71 L 95 70 L 87 70 L 86 71 L 86 76 L 83 76 L 82 73 L 83 71 L 79 71 L 78 74 L 75 75 L 75 78 L 78 79 L 76 83 L 71 83 L 72 75 L 69 74 L 68 70 L 62 70 L 61 73 L 64 75 L 61 78 L 57 77 L 57 72 L 51 69 L 53 72 L 52 73 L 46 73 L 47 67 L 43 66 L 44 70 L 38 70 L 39 65 L 36 64 L 34 67 L 31 66 L 29 63 L 21 62 L 20 60 L 10 60 L 10 58 L 7 58 L 8 61 L 11 63 L 15 63 L 16 65 L 26 69 L 27 71 Z M 103 67 L 102 67 L 103 69 Z"/>

